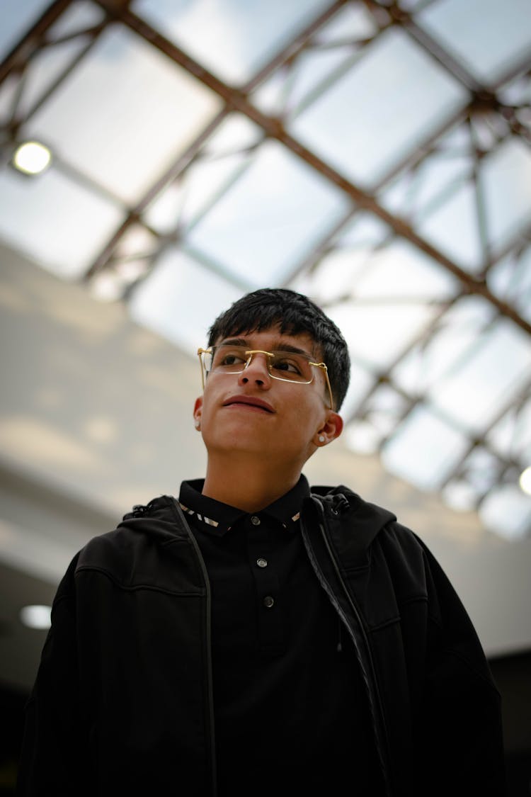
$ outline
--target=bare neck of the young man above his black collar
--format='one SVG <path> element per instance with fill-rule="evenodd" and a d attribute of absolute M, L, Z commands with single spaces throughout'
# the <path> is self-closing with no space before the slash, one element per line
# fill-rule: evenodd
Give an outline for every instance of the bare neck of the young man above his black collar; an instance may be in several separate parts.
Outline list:
<path fill-rule="evenodd" d="M 244 512 L 260 512 L 291 490 L 299 477 L 299 468 L 279 469 L 256 457 L 251 466 L 244 458 L 227 462 L 225 457 L 209 457 L 202 493 Z"/>

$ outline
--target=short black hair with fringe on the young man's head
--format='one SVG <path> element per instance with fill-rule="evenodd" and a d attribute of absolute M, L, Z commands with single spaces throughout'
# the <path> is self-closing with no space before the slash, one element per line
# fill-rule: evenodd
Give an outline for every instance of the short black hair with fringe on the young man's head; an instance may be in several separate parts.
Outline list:
<path fill-rule="evenodd" d="M 302 293 L 285 288 L 262 288 L 247 293 L 214 321 L 209 329 L 209 346 L 221 338 L 275 326 L 284 335 L 306 332 L 318 344 L 328 368 L 334 409 L 339 410 L 349 387 L 349 347 L 334 321 Z"/>

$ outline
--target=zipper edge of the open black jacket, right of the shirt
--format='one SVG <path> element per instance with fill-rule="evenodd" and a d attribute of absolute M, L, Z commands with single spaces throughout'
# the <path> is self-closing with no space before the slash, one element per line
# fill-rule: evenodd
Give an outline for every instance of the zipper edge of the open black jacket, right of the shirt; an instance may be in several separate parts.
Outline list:
<path fill-rule="evenodd" d="M 346 587 L 345 580 L 343 579 L 342 573 L 341 573 L 341 571 L 339 569 L 339 566 L 338 566 L 338 561 L 337 561 L 337 559 L 335 557 L 334 551 L 331 548 L 330 540 L 329 540 L 329 537 L 328 537 L 328 535 L 326 533 L 326 528 L 325 528 L 326 517 L 325 517 L 325 512 L 324 512 L 324 508 L 322 506 L 322 503 L 321 503 L 321 501 L 318 500 L 318 498 L 316 498 L 314 496 L 312 496 L 312 498 L 313 498 L 314 502 L 318 505 L 318 508 L 319 508 L 319 510 L 321 512 L 321 515 L 322 515 L 322 520 L 324 522 L 324 524 L 323 523 L 319 523 L 318 527 L 319 527 L 319 531 L 321 532 L 322 540 L 323 540 L 323 542 L 324 542 L 324 544 L 326 546 L 326 552 L 328 553 L 328 556 L 330 557 L 330 562 L 332 563 L 332 565 L 334 567 L 335 575 L 337 576 L 338 582 L 340 583 L 340 585 L 342 587 L 342 591 L 343 591 L 344 595 L 346 596 L 346 599 L 347 599 L 347 601 L 349 603 L 349 608 L 352 611 L 354 618 L 356 619 L 357 628 L 353 627 L 353 625 L 349 622 L 348 618 L 346 617 L 346 614 L 344 613 L 344 611 L 342 611 L 342 607 L 339 606 L 338 600 L 336 599 L 336 597 L 334 595 L 334 591 L 333 591 L 332 587 L 330 587 L 330 584 L 326 581 L 325 575 L 323 574 L 322 569 L 319 566 L 317 559 L 315 559 L 314 556 L 310 556 L 310 559 L 312 560 L 312 563 L 314 565 L 314 569 L 316 571 L 316 574 L 318 575 L 318 579 L 321 581 L 322 586 L 324 587 L 327 595 L 329 596 L 330 602 L 334 606 L 334 609 L 338 612 L 338 614 L 339 614 L 340 618 L 342 619 L 342 622 L 345 624 L 346 628 L 350 631 L 350 634 L 353 637 L 355 645 L 358 648 L 363 646 L 363 648 L 365 649 L 366 660 L 369 663 L 369 673 L 367 673 L 365 671 L 365 665 L 364 665 L 363 661 L 360 661 L 361 674 L 362 674 L 362 676 L 364 678 L 365 685 L 366 685 L 367 690 L 369 692 L 369 704 L 371 706 L 373 706 L 373 703 L 376 702 L 376 706 L 374 707 L 374 710 L 378 711 L 378 713 L 380 715 L 380 718 L 381 718 L 381 724 L 383 726 L 383 733 L 381 733 L 380 729 L 378 728 L 376 719 L 375 719 L 374 714 L 373 714 L 373 708 L 371 708 L 371 714 L 373 715 L 373 728 L 374 728 L 375 739 L 376 739 L 376 743 L 377 743 L 376 744 L 376 746 L 377 746 L 377 754 L 378 754 L 378 757 L 380 758 L 380 761 L 381 761 L 383 777 L 384 777 L 385 793 L 386 793 L 386 795 L 388 795 L 388 797 L 392 797 L 392 787 L 391 787 L 391 780 L 390 780 L 390 777 L 389 777 L 389 768 L 388 768 L 388 756 L 387 756 L 387 752 L 386 752 L 386 749 L 387 749 L 387 733 L 385 731 L 384 711 L 383 711 L 383 707 L 382 707 L 380 690 L 378 689 L 377 677 L 376 677 L 374 664 L 373 664 L 373 656 L 371 654 L 371 650 L 370 650 L 370 646 L 369 646 L 369 640 L 367 638 L 367 634 L 365 634 L 365 628 L 363 626 L 363 623 L 361 622 L 360 613 L 357 610 L 357 606 L 353 602 L 352 596 L 350 595 L 349 590 Z M 359 634 L 358 634 L 358 630 L 359 630 Z M 361 642 L 361 645 L 360 645 L 360 642 Z M 374 701 L 373 701 L 373 698 L 374 698 Z M 382 735 L 384 736 L 384 739 L 381 738 Z"/>

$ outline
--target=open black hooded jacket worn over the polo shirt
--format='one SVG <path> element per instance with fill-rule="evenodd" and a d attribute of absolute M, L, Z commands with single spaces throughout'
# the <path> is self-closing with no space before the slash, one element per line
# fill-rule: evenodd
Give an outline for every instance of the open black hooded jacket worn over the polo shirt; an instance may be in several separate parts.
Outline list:
<path fill-rule="evenodd" d="M 498 691 L 424 543 L 343 486 L 312 489 L 301 529 L 357 651 L 389 797 L 505 794 Z M 91 540 L 53 603 L 18 794 L 215 795 L 209 619 L 174 498 Z"/>

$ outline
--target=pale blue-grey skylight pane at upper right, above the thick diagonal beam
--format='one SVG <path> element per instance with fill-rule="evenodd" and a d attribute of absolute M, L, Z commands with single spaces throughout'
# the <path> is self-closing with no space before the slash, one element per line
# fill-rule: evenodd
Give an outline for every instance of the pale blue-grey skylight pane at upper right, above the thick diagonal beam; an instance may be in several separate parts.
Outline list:
<path fill-rule="evenodd" d="M 373 186 L 466 101 L 461 85 L 390 29 L 289 128 L 340 173 Z"/>

